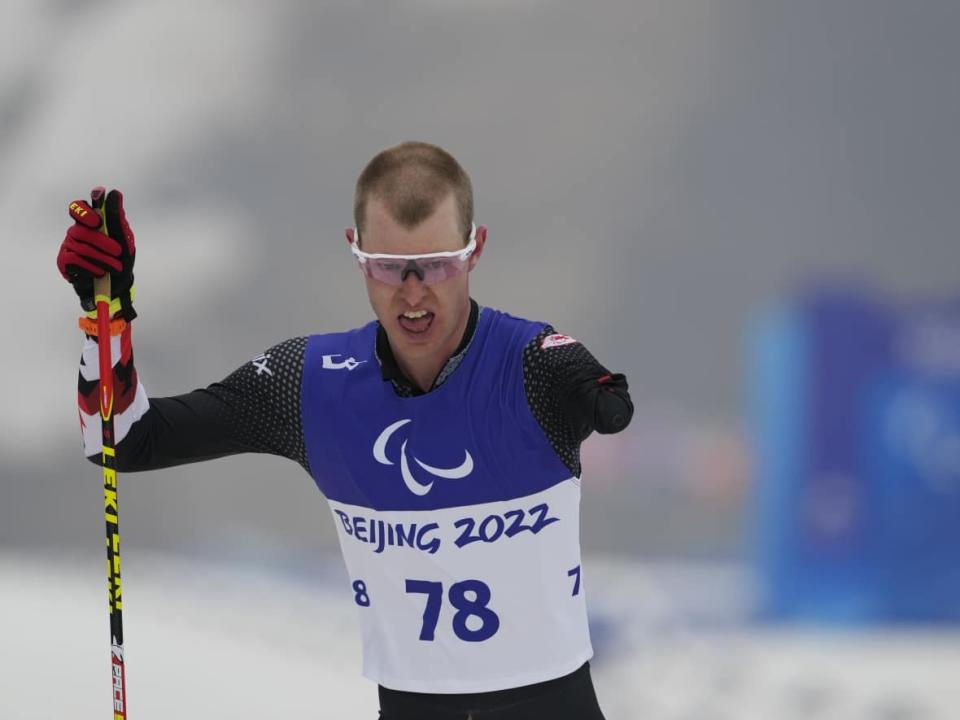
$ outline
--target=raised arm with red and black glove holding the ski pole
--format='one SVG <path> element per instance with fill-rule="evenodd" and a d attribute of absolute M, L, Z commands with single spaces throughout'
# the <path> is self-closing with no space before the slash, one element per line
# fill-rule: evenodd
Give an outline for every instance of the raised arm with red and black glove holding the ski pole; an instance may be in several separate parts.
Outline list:
<path fill-rule="evenodd" d="M 109 271 L 116 288 L 112 308 L 116 334 L 110 342 L 117 469 L 153 470 L 243 452 L 281 455 L 306 468 L 300 420 L 306 338 L 280 343 L 204 389 L 175 397 L 147 396 L 133 361 L 133 233 L 119 192 L 107 196 L 105 209 L 110 237 L 97 231 L 99 218 L 87 203 L 71 203 L 75 223 L 67 231 L 57 265 L 74 286 L 84 310 L 92 307 L 94 276 Z M 85 316 L 80 325 L 86 333 L 77 388 L 80 426 L 84 452 L 97 462 L 101 339 Z"/>

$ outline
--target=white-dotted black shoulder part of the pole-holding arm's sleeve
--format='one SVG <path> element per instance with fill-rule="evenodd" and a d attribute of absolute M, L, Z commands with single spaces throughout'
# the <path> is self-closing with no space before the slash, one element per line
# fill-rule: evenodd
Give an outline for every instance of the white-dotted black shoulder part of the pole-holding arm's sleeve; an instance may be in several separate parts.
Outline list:
<path fill-rule="evenodd" d="M 307 337 L 285 340 L 208 390 L 224 401 L 239 440 L 295 460 L 309 472 L 300 415 L 306 346 Z"/>

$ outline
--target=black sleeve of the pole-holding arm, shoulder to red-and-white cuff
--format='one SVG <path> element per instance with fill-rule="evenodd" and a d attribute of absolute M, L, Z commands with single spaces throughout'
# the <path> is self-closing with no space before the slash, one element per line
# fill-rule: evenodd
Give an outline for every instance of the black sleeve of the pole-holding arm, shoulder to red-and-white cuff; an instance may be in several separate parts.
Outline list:
<path fill-rule="evenodd" d="M 117 445 L 117 469 L 154 470 L 257 452 L 290 458 L 309 472 L 300 416 L 306 344 L 305 337 L 287 340 L 222 382 L 150 398 L 150 409 Z"/>

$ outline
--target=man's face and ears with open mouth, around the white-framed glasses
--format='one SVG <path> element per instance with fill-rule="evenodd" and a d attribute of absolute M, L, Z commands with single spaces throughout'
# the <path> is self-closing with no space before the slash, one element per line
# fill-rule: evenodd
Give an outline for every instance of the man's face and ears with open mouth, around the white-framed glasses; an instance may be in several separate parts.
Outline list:
<path fill-rule="evenodd" d="M 464 246 L 453 194 L 413 229 L 397 223 L 376 197 L 367 202 L 365 220 L 361 237 L 364 252 L 420 255 Z M 409 272 L 403 284 L 396 286 L 364 276 L 370 305 L 401 366 L 435 363 L 439 372 L 456 350 L 470 315 L 469 271 L 480 259 L 486 233 L 485 227 L 477 228 L 477 248 L 467 270 L 448 280 L 426 285 L 416 273 Z M 348 232 L 348 240 L 351 235 Z"/>

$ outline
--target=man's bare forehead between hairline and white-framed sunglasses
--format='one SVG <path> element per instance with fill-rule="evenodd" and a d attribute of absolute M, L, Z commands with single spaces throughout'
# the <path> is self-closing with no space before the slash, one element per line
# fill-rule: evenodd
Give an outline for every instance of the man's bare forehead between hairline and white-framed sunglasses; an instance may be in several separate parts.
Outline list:
<path fill-rule="evenodd" d="M 398 223 L 376 197 L 367 202 L 365 215 L 366 227 L 361 237 L 364 252 L 419 255 L 463 247 L 452 194 L 437 205 L 430 217 L 413 228 Z"/>

